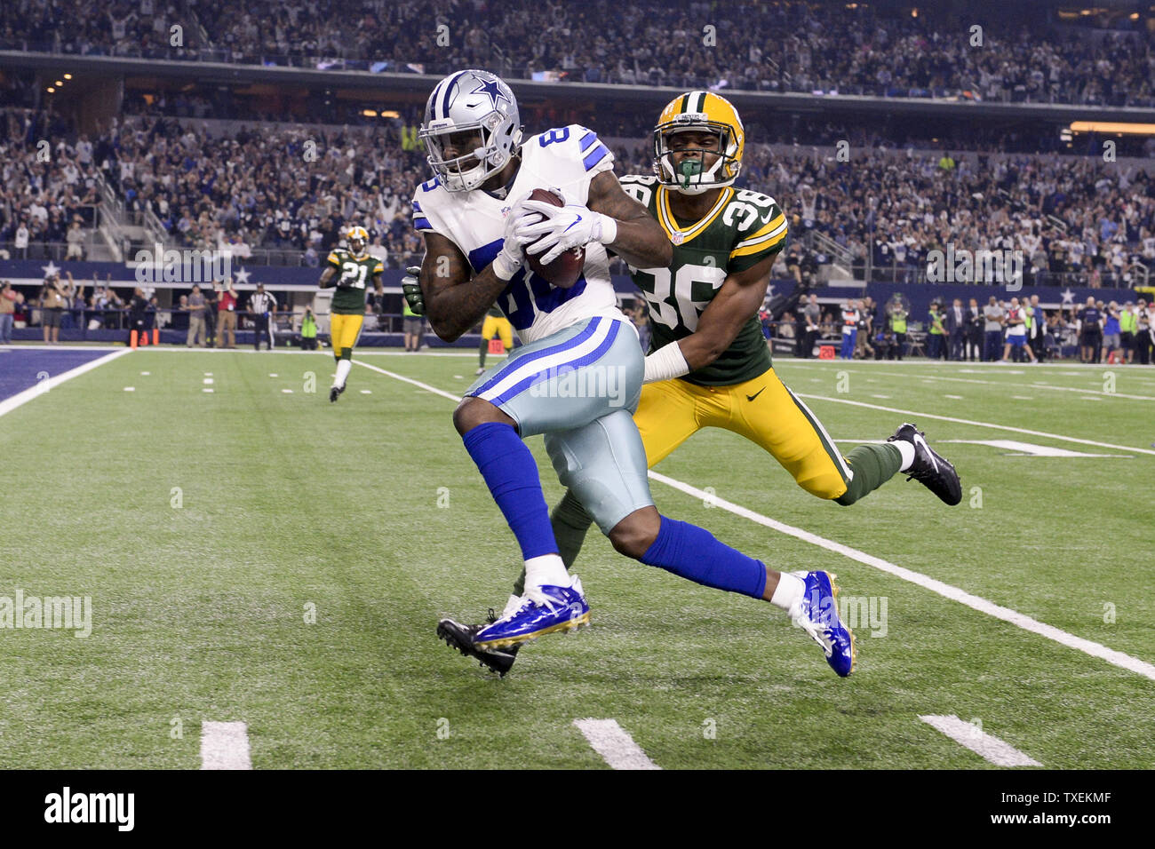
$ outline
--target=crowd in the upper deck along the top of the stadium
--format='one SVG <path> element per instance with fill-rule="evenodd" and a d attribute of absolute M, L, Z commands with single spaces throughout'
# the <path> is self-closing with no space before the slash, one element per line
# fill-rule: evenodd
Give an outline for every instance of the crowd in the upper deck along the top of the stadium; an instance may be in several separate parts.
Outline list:
<path fill-rule="evenodd" d="M 1138 28 L 1090 37 L 1087 28 L 1006 18 L 990 22 L 976 45 L 962 22 L 923 13 L 755 0 L 729 2 L 724 12 L 687 0 L 8 0 L 0 7 L 0 49 L 427 73 L 491 67 L 500 58 L 505 75 L 524 79 L 1155 102 L 1152 36 Z M 181 27 L 177 45 L 173 25 Z"/>

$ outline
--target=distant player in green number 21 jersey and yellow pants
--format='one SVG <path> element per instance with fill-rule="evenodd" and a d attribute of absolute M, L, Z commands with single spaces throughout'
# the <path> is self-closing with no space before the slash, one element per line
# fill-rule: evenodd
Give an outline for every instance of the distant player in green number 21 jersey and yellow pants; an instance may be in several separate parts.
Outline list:
<path fill-rule="evenodd" d="M 329 401 L 336 401 L 345 390 L 345 380 L 353 367 L 353 347 L 365 321 L 366 283 L 372 282 L 373 288 L 380 290 L 381 271 L 385 270 L 381 260 L 365 252 L 368 244 L 365 228 L 350 228 L 345 241 L 348 250 L 337 247 L 329 253 L 318 283 L 321 289 L 336 285 L 329 307 L 329 338 L 333 357 L 337 360 L 337 377 L 329 388 Z"/>

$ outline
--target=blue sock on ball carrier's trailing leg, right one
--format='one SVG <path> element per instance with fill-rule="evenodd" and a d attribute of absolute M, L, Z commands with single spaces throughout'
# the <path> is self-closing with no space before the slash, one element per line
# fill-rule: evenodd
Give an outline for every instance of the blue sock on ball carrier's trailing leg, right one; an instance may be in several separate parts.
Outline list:
<path fill-rule="evenodd" d="M 714 538 L 690 522 L 662 516 L 657 539 L 641 556 L 647 566 L 688 578 L 695 583 L 761 598 L 766 591 L 766 566 Z"/>

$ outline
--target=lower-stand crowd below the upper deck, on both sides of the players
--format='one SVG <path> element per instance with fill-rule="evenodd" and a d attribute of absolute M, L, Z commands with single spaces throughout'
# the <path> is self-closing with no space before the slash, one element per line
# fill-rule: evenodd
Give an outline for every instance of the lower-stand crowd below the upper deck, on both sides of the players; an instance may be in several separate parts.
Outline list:
<path fill-rule="evenodd" d="M 411 125 L 213 135 L 195 120 L 129 118 L 96 139 L 53 128 L 49 137 L 60 141 L 38 162 L 43 113 L 2 117 L 0 243 L 9 251 L 73 238 L 77 218 L 91 221 L 97 171 L 128 211 L 150 210 L 184 247 L 301 252 L 303 265 L 316 266 L 357 223 L 389 267 L 422 251 L 409 200 L 429 169 Z M 618 173 L 650 173 L 648 144 L 614 152 Z M 852 149 L 840 162 L 814 148 L 750 144 L 745 185 L 790 215 L 796 247 L 787 259 L 799 280 L 834 259 L 804 247 L 808 231 L 844 248 L 854 270 L 869 263 L 872 280 L 891 282 L 923 280 L 931 252 L 952 246 L 1020 252 L 1028 284 L 1125 285 L 1155 268 L 1155 180 L 1101 158 Z"/>

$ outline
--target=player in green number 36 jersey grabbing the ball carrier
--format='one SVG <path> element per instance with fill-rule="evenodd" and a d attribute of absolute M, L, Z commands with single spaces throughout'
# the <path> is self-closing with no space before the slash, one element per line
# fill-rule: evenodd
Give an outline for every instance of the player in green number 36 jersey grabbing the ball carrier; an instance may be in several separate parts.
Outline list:
<path fill-rule="evenodd" d="M 658 118 L 656 176 L 621 179 L 673 243 L 669 268 L 629 268 L 653 327 L 634 414 L 647 462 L 653 468 L 702 427 L 724 427 L 766 449 L 804 490 L 840 505 L 854 504 L 900 471 L 946 504 L 959 504 L 954 467 L 914 425 L 843 456 L 775 374 L 758 310 L 785 246 L 787 218 L 773 198 L 732 187 L 744 135 L 725 98 L 690 91 Z M 567 566 L 589 527 L 584 513 L 569 493 L 553 512 Z"/>

